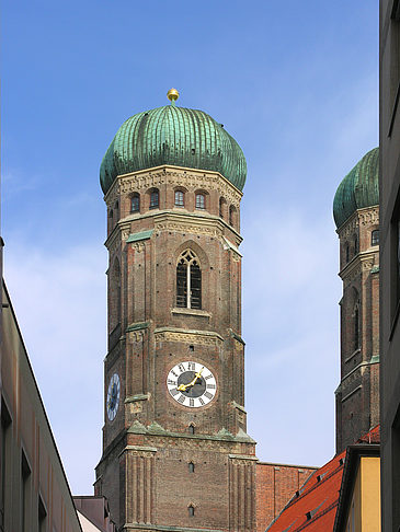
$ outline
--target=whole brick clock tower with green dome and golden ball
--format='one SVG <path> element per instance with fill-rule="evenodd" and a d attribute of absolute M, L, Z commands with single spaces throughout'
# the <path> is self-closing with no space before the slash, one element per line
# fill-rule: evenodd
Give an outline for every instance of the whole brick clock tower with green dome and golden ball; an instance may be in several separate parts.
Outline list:
<path fill-rule="evenodd" d="M 118 129 L 101 165 L 108 352 L 95 494 L 123 531 L 255 530 L 240 200 L 245 160 L 202 111 Z"/>

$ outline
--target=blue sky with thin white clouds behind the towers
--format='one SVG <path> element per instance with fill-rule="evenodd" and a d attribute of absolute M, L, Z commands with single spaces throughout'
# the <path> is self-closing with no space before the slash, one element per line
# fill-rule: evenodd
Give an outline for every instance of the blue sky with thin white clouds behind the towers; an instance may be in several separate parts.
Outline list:
<path fill-rule="evenodd" d="M 105 209 L 119 125 L 164 105 L 222 123 L 241 208 L 248 431 L 263 461 L 334 453 L 340 181 L 378 143 L 378 2 L 3 1 L 4 273 L 75 494 L 101 455 Z"/>

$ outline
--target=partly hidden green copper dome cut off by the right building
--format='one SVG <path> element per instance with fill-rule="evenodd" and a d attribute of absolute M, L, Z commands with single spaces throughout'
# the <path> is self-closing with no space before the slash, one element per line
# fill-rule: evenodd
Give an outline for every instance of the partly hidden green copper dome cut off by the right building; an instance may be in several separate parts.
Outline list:
<path fill-rule="evenodd" d="M 333 218 L 340 228 L 357 209 L 379 204 L 379 148 L 368 151 L 339 185 Z"/>

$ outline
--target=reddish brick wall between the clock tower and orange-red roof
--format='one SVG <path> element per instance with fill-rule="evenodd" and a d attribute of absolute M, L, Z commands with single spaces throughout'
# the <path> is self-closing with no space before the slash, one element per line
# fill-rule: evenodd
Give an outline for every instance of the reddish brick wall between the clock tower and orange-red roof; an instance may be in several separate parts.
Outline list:
<path fill-rule="evenodd" d="M 256 531 L 279 514 L 307 478 L 318 467 L 258 462 L 255 467 Z"/>

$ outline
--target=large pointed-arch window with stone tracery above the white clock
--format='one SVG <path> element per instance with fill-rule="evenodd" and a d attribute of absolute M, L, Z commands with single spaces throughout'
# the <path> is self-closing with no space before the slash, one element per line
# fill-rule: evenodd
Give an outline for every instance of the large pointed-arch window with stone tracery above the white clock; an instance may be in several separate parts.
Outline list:
<path fill-rule="evenodd" d="M 199 261 L 192 250 L 186 250 L 178 259 L 176 307 L 202 308 L 202 270 Z"/>

